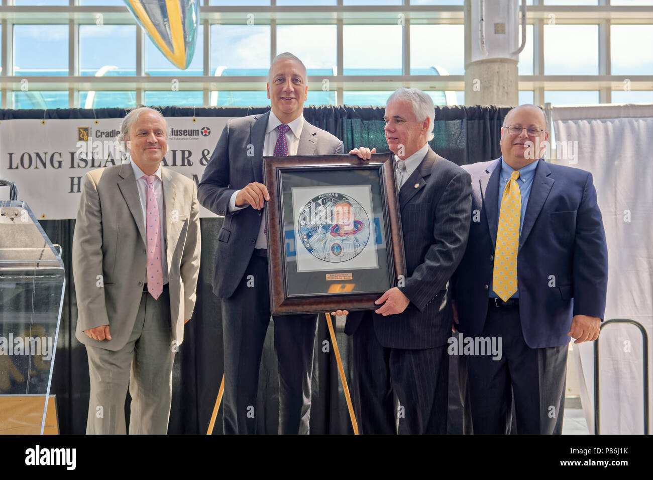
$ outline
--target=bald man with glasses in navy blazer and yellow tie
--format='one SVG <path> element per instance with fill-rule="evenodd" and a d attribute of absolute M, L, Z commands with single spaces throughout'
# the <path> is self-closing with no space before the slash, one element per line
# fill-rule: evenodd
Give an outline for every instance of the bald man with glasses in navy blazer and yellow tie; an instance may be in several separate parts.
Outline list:
<path fill-rule="evenodd" d="M 509 433 L 514 402 L 518 434 L 560 434 L 569 339 L 596 340 L 605 312 L 607 246 L 592 174 L 545 163 L 545 127 L 539 108 L 518 106 L 503 122 L 502 157 L 464 166 L 472 219 L 452 279 L 454 338 L 472 347 L 449 353 L 459 355 L 466 433 Z M 479 340 L 500 345 L 499 355 L 476 351 Z"/>

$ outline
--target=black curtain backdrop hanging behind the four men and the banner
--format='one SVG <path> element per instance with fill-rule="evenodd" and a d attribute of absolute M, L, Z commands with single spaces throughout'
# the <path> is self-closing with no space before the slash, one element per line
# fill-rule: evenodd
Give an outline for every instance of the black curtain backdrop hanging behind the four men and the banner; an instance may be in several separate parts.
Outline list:
<path fill-rule="evenodd" d="M 164 116 L 240 117 L 259 114 L 258 108 L 187 108 L 160 107 Z M 434 122 L 435 138 L 431 147 L 443 157 L 466 165 L 498 158 L 500 128 L 509 108 L 495 106 L 438 106 Z M 313 125 L 341 138 L 345 152 L 367 146 L 377 152 L 389 152 L 383 127 L 383 107 L 310 106 L 304 118 Z M 0 120 L 16 118 L 121 118 L 123 108 L 86 110 L 0 110 Z M 10 180 L 10 179 L 5 179 Z M 20 199 L 20 185 L 18 194 Z M 185 340 L 176 355 L 172 372 L 172 410 L 168 434 L 206 434 L 215 398 L 223 374 L 223 337 L 220 300 L 212 292 L 215 242 L 222 218 L 203 218 L 202 257 L 197 285 L 197 306 L 186 325 Z M 72 280 L 71 249 L 74 220 L 41 221 L 44 231 L 63 248 L 66 269 L 65 298 L 57 342 L 56 362 L 50 393 L 57 396 L 57 413 L 61 434 L 84 434 L 89 402 L 89 374 L 86 348 L 74 336 L 77 300 Z M 351 344 L 343 333 L 344 325 L 336 326 L 336 336 L 345 373 L 351 378 Z M 276 434 L 279 415 L 279 385 L 274 353 L 274 323 L 266 336 L 259 397 L 257 400 L 258 430 Z M 327 344 L 323 342 L 328 341 Z M 325 347 L 325 345 L 327 345 Z M 330 337 L 324 315 L 321 315 L 315 338 L 313 402 L 311 434 L 351 434 L 353 430 L 345 396 L 340 385 L 338 366 L 330 348 Z M 449 372 L 449 433 L 462 434 L 462 413 L 458 396 L 456 361 L 452 357 Z M 129 394 L 125 411 L 129 415 Z M 222 409 L 218 412 L 214 434 L 222 433 Z"/>

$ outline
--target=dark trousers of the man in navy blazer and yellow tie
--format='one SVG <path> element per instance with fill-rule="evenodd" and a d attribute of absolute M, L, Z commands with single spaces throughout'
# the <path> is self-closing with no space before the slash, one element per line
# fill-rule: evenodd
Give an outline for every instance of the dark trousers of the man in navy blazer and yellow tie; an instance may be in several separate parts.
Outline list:
<path fill-rule="evenodd" d="M 561 434 L 568 345 L 529 347 L 518 305 L 493 301 L 481 336 L 501 338 L 502 355 L 458 357 L 464 432 L 509 434 L 514 398 L 517 434 Z"/>

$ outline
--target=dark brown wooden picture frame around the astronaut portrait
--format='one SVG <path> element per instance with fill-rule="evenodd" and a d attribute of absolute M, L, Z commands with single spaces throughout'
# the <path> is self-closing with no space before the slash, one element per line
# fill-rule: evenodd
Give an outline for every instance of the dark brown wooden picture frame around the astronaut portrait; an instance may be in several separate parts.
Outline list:
<path fill-rule="evenodd" d="M 399 210 L 399 199 L 394 180 L 394 155 L 392 153 L 375 153 L 369 161 L 362 160 L 356 155 L 305 155 L 287 157 L 263 157 L 263 182 L 270 193 L 270 200 L 266 203 L 265 215 L 267 221 L 268 236 L 268 272 L 270 276 L 270 308 L 272 315 L 287 313 L 323 313 L 335 309 L 372 310 L 378 308 L 374 301 L 383 295 L 383 291 L 369 291 L 361 293 L 349 293 L 346 289 L 338 291 L 336 288 L 329 289 L 328 293 L 315 293 L 309 295 L 289 295 L 287 288 L 288 275 L 299 275 L 296 271 L 290 271 L 290 263 L 287 258 L 286 232 L 284 227 L 284 205 L 283 195 L 289 195 L 283 191 L 284 174 L 303 174 L 309 172 L 311 176 L 324 176 L 343 178 L 349 174 L 360 174 L 363 172 L 369 176 L 378 178 L 378 189 L 372 185 L 375 191 L 380 193 L 375 198 L 377 202 L 381 199 L 380 205 L 374 208 L 383 212 L 383 221 L 374 234 L 383 236 L 382 252 L 376 253 L 384 262 L 387 269 L 383 270 L 383 278 L 387 285 L 383 291 L 397 285 L 400 278 L 406 276 L 406 259 L 404 254 L 404 236 L 402 234 L 401 215 Z M 378 174 L 376 175 L 376 172 Z M 375 183 L 374 178 L 372 182 Z M 342 182 L 340 182 L 342 183 Z M 325 183 L 325 191 L 328 191 L 328 182 Z M 370 184 L 371 185 L 371 184 Z M 293 230 L 298 240 L 298 232 Z M 377 238 L 377 237 L 374 237 Z M 298 242 L 293 242 L 298 246 Z M 381 266 L 379 266 L 381 268 Z M 374 269 L 366 270 L 368 276 Z M 321 276 L 327 270 L 319 270 L 310 275 Z M 334 268 L 338 272 L 338 268 Z M 306 273 L 302 272 L 302 275 Z M 329 277 L 327 275 L 327 280 Z M 337 287 L 337 283 L 332 286 Z M 343 286 L 347 285 L 346 283 Z"/>

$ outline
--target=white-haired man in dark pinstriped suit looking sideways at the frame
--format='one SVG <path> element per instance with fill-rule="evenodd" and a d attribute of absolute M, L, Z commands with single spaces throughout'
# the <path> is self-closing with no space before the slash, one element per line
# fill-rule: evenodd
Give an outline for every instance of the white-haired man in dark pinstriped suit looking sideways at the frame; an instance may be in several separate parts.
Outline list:
<path fill-rule="evenodd" d="M 400 433 L 447 433 L 449 278 L 467 244 L 471 186 L 470 174 L 428 146 L 434 116 L 432 99 L 416 88 L 398 89 L 385 108 L 408 276 L 376 300 L 377 310 L 347 318 L 355 409 L 364 434 L 394 434 L 397 420 Z M 374 150 L 349 153 L 369 158 Z"/>

